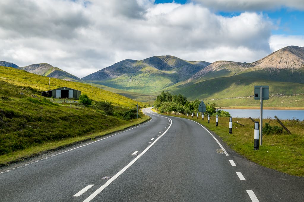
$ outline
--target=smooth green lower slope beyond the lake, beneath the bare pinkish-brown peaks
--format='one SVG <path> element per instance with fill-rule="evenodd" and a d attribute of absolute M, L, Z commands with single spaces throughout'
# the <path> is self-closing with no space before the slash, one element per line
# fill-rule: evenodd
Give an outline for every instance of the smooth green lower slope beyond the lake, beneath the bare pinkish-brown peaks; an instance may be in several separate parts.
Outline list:
<path fill-rule="evenodd" d="M 250 97 L 254 95 L 255 85 L 269 86 L 270 98 L 264 101 L 264 106 L 304 107 L 304 84 L 269 81 L 241 75 L 215 78 L 195 84 L 175 84 L 163 90 L 172 94 L 183 94 L 188 100 L 215 102 L 220 107 L 259 106 L 260 102 Z"/>

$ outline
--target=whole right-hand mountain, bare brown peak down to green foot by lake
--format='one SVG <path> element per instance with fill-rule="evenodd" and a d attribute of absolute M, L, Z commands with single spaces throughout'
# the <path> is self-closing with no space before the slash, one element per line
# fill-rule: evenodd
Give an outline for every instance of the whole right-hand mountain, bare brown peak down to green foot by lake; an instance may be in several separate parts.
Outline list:
<path fill-rule="evenodd" d="M 252 63 L 213 62 L 163 91 L 181 93 L 191 100 L 215 101 L 222 106 L 257 106 L 259 103 L 250 97 L 254 86 L 269 85 L 269 95 L 274 99 L 266 104 L 299 106 L 304 101 L 303 75 L 304 47 L 288 46 Z"/>

